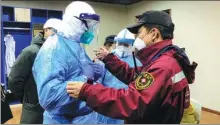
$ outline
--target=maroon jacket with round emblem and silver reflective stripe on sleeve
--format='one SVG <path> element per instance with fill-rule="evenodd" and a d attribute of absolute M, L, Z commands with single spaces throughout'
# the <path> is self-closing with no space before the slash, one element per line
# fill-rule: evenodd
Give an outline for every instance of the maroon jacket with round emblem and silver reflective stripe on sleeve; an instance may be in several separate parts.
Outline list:
<path fill-rule="evenodd" d="M 180 123 L 190 94 L 183 69 L 173 57 L 175 51 L 169 50 L 151 62 L 170 45 L 172 41 L 166 40 L 140 50 L 138 57 L 143 67 L 138 67 L 141 74 L 136 79 L 134 68 L 108 55 L 103 59 L 106 68 L 129 88 L 116 90 L 101 84 L 84 84 L 79 99 L 98 113 L 127 123 Z"/>

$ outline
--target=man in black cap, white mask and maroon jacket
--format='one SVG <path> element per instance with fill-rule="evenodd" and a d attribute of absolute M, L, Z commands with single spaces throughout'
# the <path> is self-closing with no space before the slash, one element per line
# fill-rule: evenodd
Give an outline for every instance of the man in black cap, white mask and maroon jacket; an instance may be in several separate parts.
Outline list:
<path fill-rule="evenodd" d="M 190 104 L 188 84 L 194 81 L 196 63 L 191 65 L 184 51 L 172 44 L 174 24 L 165 12 L 145 12 L 128 30 L 137 34 L 134 47 L 143 66 L 130 68 L 105 48 L 95 52 L 129 88 L 74 81 L 68 83 L 67 92 L 98 113 L 126 123 L 179 124 Z"/>

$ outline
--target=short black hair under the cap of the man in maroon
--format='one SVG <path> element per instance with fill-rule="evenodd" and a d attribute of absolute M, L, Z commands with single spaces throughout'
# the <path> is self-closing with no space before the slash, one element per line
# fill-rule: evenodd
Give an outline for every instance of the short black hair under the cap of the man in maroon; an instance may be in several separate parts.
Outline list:
<path fill-rule="evenodd" d="M 153 28 L 156 28 L 160 31 L 160 34 L 162 36 L 162 38 L 164 40 L 166 39 L 173 39 L 173 31 L 174 31 L 174 25 L 171 27 L 165 27 L 165 26 L 161 26 L 161 25 L 154 25 L 154 24 L 145 24 L 144 25 L 145 28 L 151 30 Z"/>

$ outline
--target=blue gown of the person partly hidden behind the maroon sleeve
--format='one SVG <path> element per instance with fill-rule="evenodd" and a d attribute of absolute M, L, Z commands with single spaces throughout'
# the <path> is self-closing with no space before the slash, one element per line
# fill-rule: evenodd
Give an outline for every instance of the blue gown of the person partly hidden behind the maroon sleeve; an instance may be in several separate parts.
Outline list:
<path fill-rule="evenodd" d="M 115 53 L 114 53 L 115 54 Z M 117 54 L 115 54 L 117 56 Z M 128 63 L 130 67 L 134 67 L 133 56 L 129 55 L 126 57 L 119 57 L 122 61 Z M 141 62 L 136 58 L 137 66 L 142 66 Z M 102 63 L 104 66 L 104 63 Z M 112 75 L 107 69 L 104 70 L 102 77 L 98 80 L 98 83 L 109 87 L 109 88 L 116 88 L 116 89 L 127 89 L 128 85 L 124 84 L 120 80 L 118 80 L 114 75 Z M 123 124 L 124 120 L 113 119 L 102 114 L 98 114 L 97 121 L 99 124 Z"/>

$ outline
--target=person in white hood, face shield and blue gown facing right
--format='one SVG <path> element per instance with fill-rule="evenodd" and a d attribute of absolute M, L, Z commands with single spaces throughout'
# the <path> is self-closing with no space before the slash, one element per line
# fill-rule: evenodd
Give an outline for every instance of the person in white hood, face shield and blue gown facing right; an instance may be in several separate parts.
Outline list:
<path fill-rule="evenodd" d="M 93 63 L 81 43 L 89 44 L 95 37 L 99 16 L 85 2 L 67 6 L 58 33 L 49 36 L 40 49 L 33 76 L 40 105 L 45 109 L 44 124 L 96 124 L 97 113 L 86 103 L 66 92 L 68 81 L 93 83 L 103 69 Z"/>

